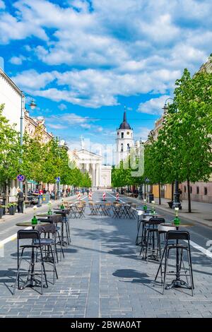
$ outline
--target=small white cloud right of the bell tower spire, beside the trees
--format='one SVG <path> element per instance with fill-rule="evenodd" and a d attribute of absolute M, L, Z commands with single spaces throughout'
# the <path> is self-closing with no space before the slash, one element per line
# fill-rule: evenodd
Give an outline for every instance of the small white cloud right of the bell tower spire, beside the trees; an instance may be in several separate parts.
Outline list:
<path fill-rule="evenodd" d="M 147 113 L 147 114 L 162 114 L 163 113 L 163 106 L 165 104 L 165 100 L 169 98 L 169 95 L 162 95 L 158 98 L 151 98 L 146 102 L 141 102 L 137 109 L 138 112 Z"/>

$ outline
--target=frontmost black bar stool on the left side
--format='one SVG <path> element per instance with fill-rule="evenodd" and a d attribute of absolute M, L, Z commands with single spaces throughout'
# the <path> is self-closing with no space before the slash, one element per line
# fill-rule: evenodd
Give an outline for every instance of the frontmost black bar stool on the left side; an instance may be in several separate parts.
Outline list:
<path fill-rule="evenodd" d="M 22 239 L 31 239 L 31 244 L 23 244 L 20 245 L 20 240 Z M 35 243 L 36 242 L 36 243 Z M 16 275 L 16 282 L 13 287 L 13 295 L 16 292 L 16 285 L 18 283 L 18 289 L 24 289 L 25 287 L 33 287 L 40 285 L 41 293 L 43 292 L 43 276 L 45 277 L 45 286 L 48 287 L 47 283 L 47 275 L 45 271 L 45 264 L 42 255 L 42 247 L 43 244 L 40 242 L 40 232 L 37 230 L 18 230 L 17 232 L 17 262 L 18 262 L 18 271 Z M 23 260 L 23 253 L 25 249 L 31 249 L 31 257 L 30 257 L 30 266 L 28 272 L 20 272 L 21 262 Z M 21 250 L 21 254 L 20 254 Z M 40 251 L 40 271 L 35 270 L 35 254 L 37 254 L 37 250 Z M 20 287 L 20 274 L 27 273 L 27 281 L 26 283 Z M 41 280 L 35 279 L 35 276 L 40 275 Z"/>

